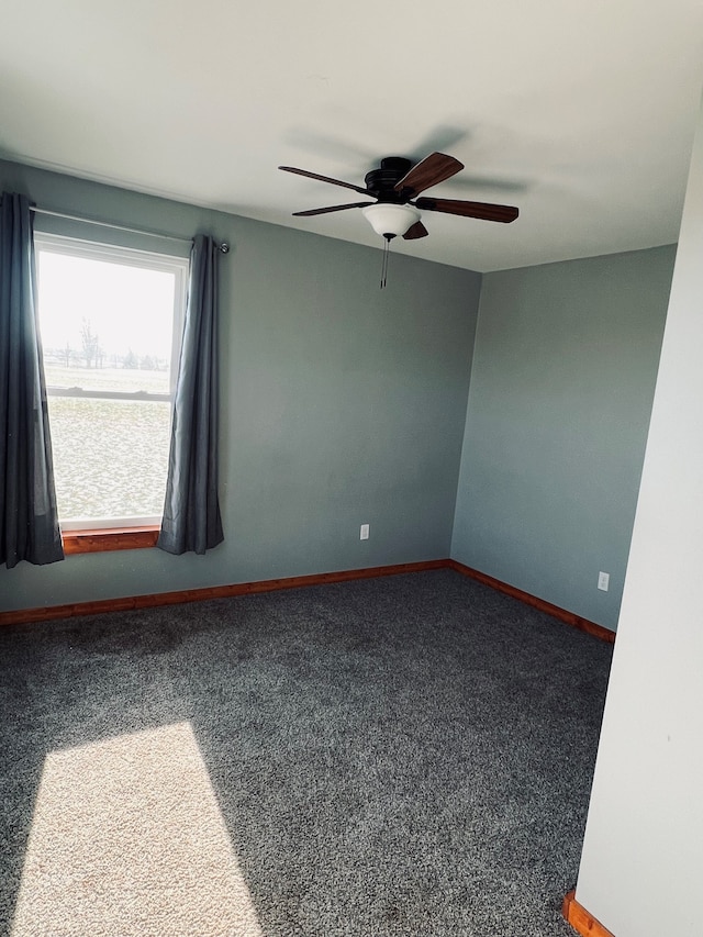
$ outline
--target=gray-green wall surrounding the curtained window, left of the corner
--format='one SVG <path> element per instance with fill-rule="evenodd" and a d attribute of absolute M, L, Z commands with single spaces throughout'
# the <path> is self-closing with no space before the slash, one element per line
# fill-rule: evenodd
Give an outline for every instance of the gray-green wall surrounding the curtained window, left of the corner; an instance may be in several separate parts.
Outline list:
<path fill-rule="evenodd" d="M 381 292 L 380 250 L 16 164 L 0 163 L 0 186 L 42 208 L 232 244 L 221 265 L 225 543 L 205 557 L 129 550 L 3 567 L 0 609 L 448 556 L 478 274 L 395 255 Z"/>

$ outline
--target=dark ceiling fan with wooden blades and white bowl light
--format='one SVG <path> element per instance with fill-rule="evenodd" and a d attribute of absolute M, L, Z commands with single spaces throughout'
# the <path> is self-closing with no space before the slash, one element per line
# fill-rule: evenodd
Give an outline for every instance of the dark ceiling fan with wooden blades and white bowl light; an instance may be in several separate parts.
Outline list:
<path fill-rule="evenodd" d="M 417 198 L 425 189 L 444 182 L 445 179 L 449 179 L 464 169 L 464 164 L 445 153 L 431 153 L 429 156 L 415 165 L 402 156 L 387 156 L 381 159 L 378 169 L 371 169 L 370 172 L 366 174 L 364 187 L 332 179 L 328 176 L 320 176 L 317 172 L 309 172 L 306 169 L 297 169 L 294 166 L 279 166 L 278 168 L 284 172 L 294 172 L 298 176 L 306 176 L 309 179 L 317 179 L 320 182 L 342 186 L 345 189 L 359 192 L 361 196 L 376 199 L 375 202 L 350 202 L 344 205 L 330 205 L 328 208 L 293 212 L 294 215 L 309 217 L 328 212 L 346 211 L 347 209 L 361 209 L 373 231 L 384 237 L 387 242 L 393 237 L 403 237 L 405 241 L 426 237 L 428 231 L 421 221 L 423 211 L 443 212 L 444 214 L 503 223 L 515 221 L 518 215 L 518 210 L 512 205 L 467 202 L 459 199 Z"/>

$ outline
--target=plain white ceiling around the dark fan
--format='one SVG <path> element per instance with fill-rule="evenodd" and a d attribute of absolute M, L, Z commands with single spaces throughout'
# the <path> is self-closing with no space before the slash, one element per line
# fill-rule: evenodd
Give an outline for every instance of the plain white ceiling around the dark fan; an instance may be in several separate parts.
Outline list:
<path fill-rule="evenodd" d="M 496 270 L 672 243 L 703 0 L 7 0 L 0 156 L 380 247 L 348 190 L 381 156 L 466 169 L 394 250 Z M 426 193 L 428 194 L 428 193 Z"/>

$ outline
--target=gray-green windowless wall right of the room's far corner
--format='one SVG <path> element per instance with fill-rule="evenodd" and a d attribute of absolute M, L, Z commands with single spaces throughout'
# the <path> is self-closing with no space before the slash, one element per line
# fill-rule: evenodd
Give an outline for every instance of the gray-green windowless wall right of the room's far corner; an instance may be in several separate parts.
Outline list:
<path fill-rule="evenodd" d="M 483 277 L 451 556 L 611 628 L 674 253 Z"/>

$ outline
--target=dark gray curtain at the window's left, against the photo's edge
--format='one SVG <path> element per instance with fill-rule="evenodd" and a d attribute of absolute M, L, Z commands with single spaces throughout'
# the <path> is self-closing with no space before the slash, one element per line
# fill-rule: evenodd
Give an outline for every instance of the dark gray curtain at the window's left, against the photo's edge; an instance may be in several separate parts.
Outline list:
<path fill-rule="evenodd" d="M 0 208 L 0 564 L 64 559 L 36 319 L 32 212 Z"/>

